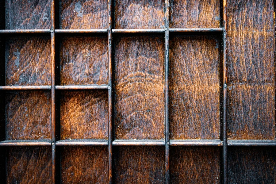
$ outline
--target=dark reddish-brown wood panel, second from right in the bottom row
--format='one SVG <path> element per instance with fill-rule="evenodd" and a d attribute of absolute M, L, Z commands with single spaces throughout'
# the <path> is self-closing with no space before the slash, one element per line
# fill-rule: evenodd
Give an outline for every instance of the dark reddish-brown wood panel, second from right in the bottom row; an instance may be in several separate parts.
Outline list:
<path fill-rule="evenodd" d="M 220 183 L 220 149 L 217 147 L 171 147 L 170 183 Z"/>

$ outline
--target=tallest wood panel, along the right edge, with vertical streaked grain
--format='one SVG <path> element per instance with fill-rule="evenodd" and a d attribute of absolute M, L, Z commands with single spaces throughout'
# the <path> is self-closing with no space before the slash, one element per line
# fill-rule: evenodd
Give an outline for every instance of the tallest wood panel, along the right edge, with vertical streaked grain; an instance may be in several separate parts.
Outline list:
<path fill-rule="evenodd" d="M 273 0 L 228 1 L 228 138 L 275 139 Z"/>

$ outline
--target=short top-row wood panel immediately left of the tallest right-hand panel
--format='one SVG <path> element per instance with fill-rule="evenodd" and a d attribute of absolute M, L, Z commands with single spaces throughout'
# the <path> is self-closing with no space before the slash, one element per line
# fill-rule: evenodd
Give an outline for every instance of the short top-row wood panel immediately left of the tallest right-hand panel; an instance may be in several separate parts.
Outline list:
<path fill-rule="evenodd" d="M 220 27 L 220 0 L 171 0 L 170 2 L 170 28 Z"/>

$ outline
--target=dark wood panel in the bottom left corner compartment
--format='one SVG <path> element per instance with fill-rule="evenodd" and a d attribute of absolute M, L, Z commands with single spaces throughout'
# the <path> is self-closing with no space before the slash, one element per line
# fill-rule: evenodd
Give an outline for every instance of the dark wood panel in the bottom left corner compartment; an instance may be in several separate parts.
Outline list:
<path fill-rule="evenodd" d="M 51 147 L 8 148 L 6 183 L 51 183 L 51 156 Z"/>

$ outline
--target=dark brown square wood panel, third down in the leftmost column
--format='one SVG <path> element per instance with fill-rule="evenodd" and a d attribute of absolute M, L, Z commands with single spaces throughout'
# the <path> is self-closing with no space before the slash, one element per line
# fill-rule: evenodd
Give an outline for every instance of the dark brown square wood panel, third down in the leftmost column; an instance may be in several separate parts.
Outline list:
<path fill-rule="evenodd" d="M 51 139 L 49 91 L 6 92 L 6 140 Z"/>

